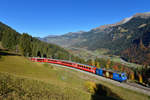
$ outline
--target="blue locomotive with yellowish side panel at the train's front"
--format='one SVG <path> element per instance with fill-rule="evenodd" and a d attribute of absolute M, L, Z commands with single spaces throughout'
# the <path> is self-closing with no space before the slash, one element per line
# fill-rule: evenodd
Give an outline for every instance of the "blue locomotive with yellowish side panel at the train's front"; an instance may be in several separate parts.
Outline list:
<path fill-rule="evenodd" d="M 117 71 L 112 71 L 112 70 L 106 70 L 106 69 L 102 69 L 102 68 L 96 68 L 96 74 L 103 76 L 103 77 L 107 77 L 119 82 L 123 82 L 127 80 L 127 76 L 125 73 L 121 73 L 121 72 L 117 72 Z"/>

